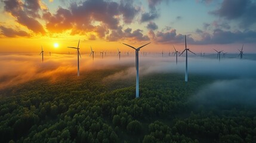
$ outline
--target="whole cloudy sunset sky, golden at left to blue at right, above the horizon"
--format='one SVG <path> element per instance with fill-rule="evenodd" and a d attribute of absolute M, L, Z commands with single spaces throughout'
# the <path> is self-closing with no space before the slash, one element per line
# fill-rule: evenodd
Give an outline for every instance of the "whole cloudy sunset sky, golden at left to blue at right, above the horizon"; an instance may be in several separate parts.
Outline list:
<path fill-rule="evenodd" d="M 256 53 L 255 0 L 1 0 L 0 52 L 128 51 Z M 54 47 L 54 43 L 58 43 Z M 74 49 L 75 50 L 75 49 Z M 74 51 L 75 52 L 75 51 Z M 246 53 L 245 52 L 245 53 Z"/>

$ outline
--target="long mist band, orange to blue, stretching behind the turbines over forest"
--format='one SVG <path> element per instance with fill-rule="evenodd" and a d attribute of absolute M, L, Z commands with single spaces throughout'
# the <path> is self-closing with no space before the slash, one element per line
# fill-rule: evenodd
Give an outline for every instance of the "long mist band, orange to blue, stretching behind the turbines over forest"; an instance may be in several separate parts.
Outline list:
<path fill-rule="evenodd" d="M 77 75 L 76 55 L 52 54 L 44 56 L 44 63 L 40 55 L 5 54 L 0 55 L 0 89 L 17 85 L 34 79 L 47 78 L 55 80 L 58 77 L 69 77 Z M 92 57 L 82 55 L 80 59 L 80 76 L 90 76 L 88 71 L 104 69 L 124 69 L 105 77 L 103 80 L 135 79 L 135 57 L 134 55 L 122 54 L 121 60 L 118 55 L 107 55 L 101 58 L 96 55 Z M 199 98 L 208 99 L 208 96 L 225 97 L 227 99 L 237 96 L 254 97 L 256 79 L 256 61 L 240 60 L 239 58 L 203 58 L 191 56 L 188 63 L 190 74 L 197 76 L 209 76 L 216 79 L 211 85 L 205 85 L 198 94 Z M 185 57 L 161 55 L 139 57 L 140 76 L 150 73 L 183 73 L 185 72 Z M 65 75 L 65 76 L 63 76 Z M 190 79 L 189 79 L 190 81 Z M 247 83 L 251 86 L 245 86 Z M 242 84 L 241 86 L 238 86 Z M 224 88 L 225 87 L 225 88 Z M 238 90 L 238 91 L 235 91 Z M 241 92 L 239 92 L 241 91 Z M 239 94 L 240 93 L 240 94 Z M 239 98 L 238 98 L 239 100 Z M 203 101 L 203 100 L 202 100 Z M 241 100 L 242 101 L 242 100 Z"/>

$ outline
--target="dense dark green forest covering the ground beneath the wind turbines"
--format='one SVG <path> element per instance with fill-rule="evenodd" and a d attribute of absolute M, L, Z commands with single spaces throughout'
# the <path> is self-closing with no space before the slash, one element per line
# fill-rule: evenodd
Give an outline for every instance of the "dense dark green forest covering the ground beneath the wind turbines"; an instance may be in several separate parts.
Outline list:
<path fill-rule="evenodd" d="M 112 80 L 123 67 L 0 90 L 0 142 L 256 142 L 253 105 L 192 97 L 214 78 L 150 73 Z M 224 77 L 222 77 L 224 78 Z"/>

